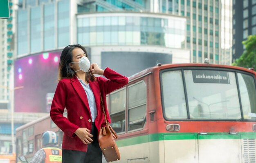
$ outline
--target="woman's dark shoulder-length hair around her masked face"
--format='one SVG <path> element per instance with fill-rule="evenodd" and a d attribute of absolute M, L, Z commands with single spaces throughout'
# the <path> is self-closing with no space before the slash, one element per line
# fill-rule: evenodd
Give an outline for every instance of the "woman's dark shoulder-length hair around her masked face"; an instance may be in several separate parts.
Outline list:
<path fill-rule="evenodd" d="M 79 44 L 74 44 L 74 45 L 68 45 L 66 46 L 63 51 L 61 52 L 61 58 L 60 58 L 60 63 L 58 65 L 58 74 L 59 74 L 59 77 L 58 79 L 61 80 L 61 79 L 70 79 L 70 78 L 73 78 L 75 73 L 74 73 L 74 70 L 72 70 L 72 68 L 70 67 L 70 62 L 73 62 L 72 61 L 72 51 L 75 49 L 75 48 L 81 48 L 84 53 L 85 53 L 85 56 L 88 57 L 87 55 L 87 51 L 85 50 L 85 48 Z M 85 75 L 85 80 L 88 82 L 89 80 L 90 81 L 94 81 L 95 80 L 95 77 L 93 74 L 91 74 L 89 71 L 86 73 Z"/>

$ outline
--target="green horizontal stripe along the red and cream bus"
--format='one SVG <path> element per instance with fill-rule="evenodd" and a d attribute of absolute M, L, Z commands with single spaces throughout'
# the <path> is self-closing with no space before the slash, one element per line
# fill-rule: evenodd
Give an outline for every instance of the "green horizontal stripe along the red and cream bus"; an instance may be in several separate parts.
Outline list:
<path fill-rule="evenodd" d="M 118 147 L 148 143 L 162 140 L 191 140 L 191 139 L 256 139 L 254 132 L 238 132 L 238 134 L 229 134 L 227 132 L 212 132 L 208 134 L 198 133 L 156 133 L 139 137 L 117 140 Z"/>

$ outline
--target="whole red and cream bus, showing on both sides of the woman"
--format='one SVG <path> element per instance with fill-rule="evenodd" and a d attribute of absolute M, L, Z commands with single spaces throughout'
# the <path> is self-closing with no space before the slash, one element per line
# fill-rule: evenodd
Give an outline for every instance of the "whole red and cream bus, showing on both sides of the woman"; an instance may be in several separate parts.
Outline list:
<path fill-rule="evenodd" d="M 132 75 L 106 96 L 117 163 L 256 162 L 255 78 L 216 64 L 157 64 Z M 17 156 L 40 149 L 46 130 L 61 148 L 63 132 L 47 116 L 16 129 Z"/>

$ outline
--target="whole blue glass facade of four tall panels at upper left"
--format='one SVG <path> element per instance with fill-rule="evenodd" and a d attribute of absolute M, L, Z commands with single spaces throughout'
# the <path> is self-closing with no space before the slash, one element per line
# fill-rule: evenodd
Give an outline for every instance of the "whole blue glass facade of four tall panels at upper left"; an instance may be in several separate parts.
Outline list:
<path fill-rule="evenodd" d="M 70 44 L 70 0 L 39 0 L 35 7 L 18 9 L 17 15 L 18 56 Z"/>

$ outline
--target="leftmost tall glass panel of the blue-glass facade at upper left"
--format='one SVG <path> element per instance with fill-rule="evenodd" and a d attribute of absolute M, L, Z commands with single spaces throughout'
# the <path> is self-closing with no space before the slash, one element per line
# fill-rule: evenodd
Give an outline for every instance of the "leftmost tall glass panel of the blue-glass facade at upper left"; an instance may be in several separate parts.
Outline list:
<path fill-rule="evenodd" d="M 18 54 L 27 53 L 27 10 L 18 10 L 17 12 L 17 41 L 18 41 Z"/>

